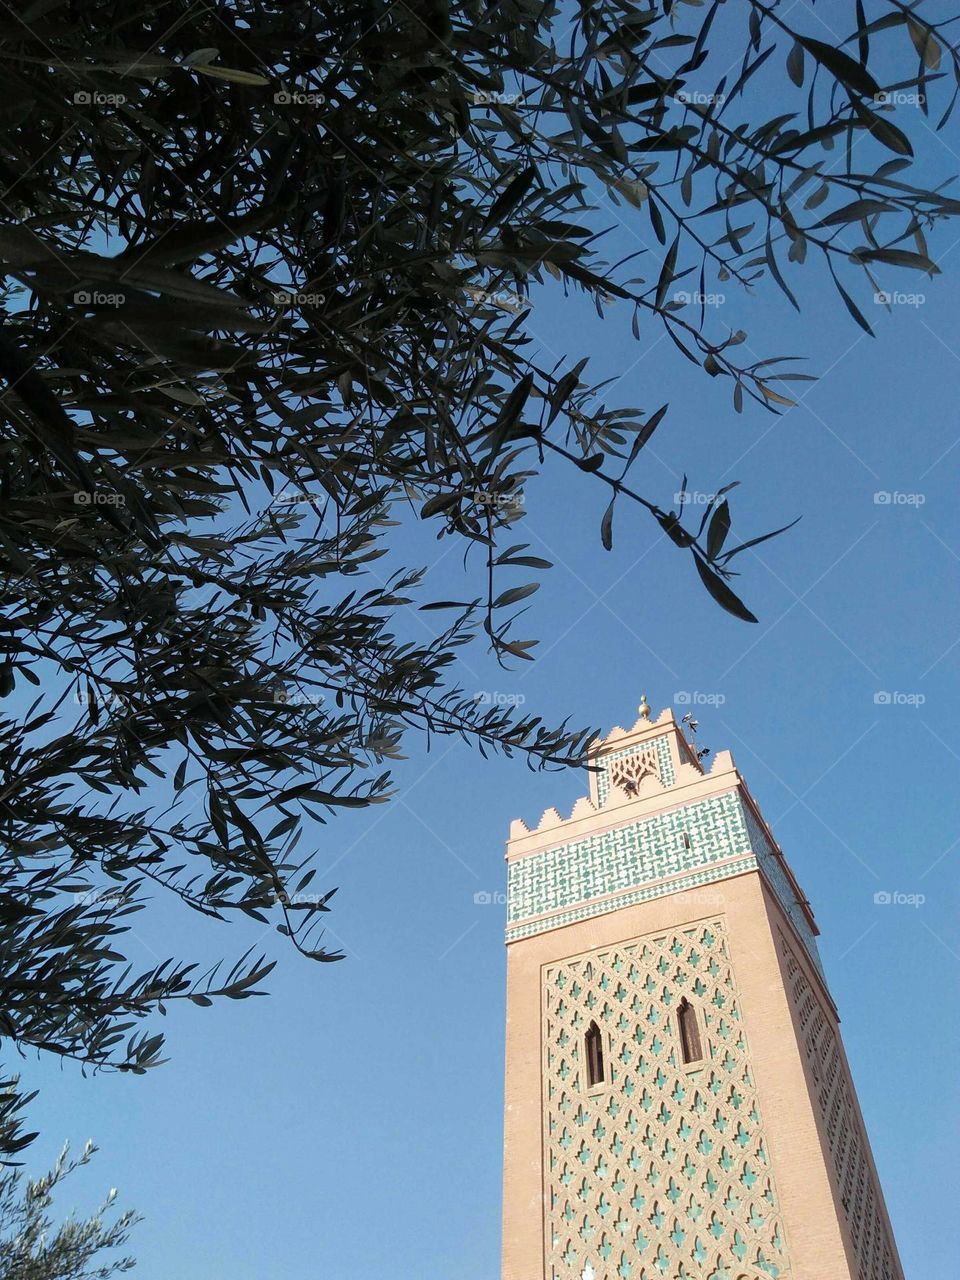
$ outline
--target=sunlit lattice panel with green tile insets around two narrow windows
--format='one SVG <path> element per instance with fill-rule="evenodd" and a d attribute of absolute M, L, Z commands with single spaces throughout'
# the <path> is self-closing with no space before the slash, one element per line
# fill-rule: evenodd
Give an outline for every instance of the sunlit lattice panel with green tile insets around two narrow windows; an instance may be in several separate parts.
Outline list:
<path fill-rule="evenodd" d="M 698 1011 L 685 1066 L 676 1009 Z M 791 1275 L 722 920 L 544 969 L 549 1280 Z M 584 1037 L 603 1033 L 605 1085 Z"/>

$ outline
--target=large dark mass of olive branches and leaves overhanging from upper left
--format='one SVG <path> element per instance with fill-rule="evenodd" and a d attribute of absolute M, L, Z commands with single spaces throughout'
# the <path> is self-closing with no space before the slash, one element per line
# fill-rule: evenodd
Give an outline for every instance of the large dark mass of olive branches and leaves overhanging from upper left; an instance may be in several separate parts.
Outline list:
<path fill-rule="evenodd" d="M 517 495 L 545 466 L 605 490 L 604 547 L 639 504 L 754 621 L 736 557 L 773 534 L 733 539 L 728 490 L 699 526 L 640 493 L 657 388 L 608 403 L 585 358 L 538 355 L 530 316 L 581 294 L 641 340 L 663 326 L 737 411 L 790 406 L 795 366 L 677 287 L 764 278 L 795 303 L 815 259 L 869 328 L 858 278 L 936 271 L 927 236 L 960 204 L 918 182 L 910 140 L 954 108 L 950 22 L 869 8 L 4 10 L 5 1039 L 142 1071 L 151 1015 L 260 989 L 264 956 L 132 972 L 154 886 L 335 959 L 301 820 L 383 801 L 410 730 L 582 758 L 588 731 L 452 677 L 475 639 L 531 657 L 515 621 L 549 566 Z M 635 239 L 608 261 L 617 223 Z M 378 564 L 404 511 L 470 553 L 462 599 Z M 402 636 L 407 608 L 442 620 L 429 640 Z"/>

